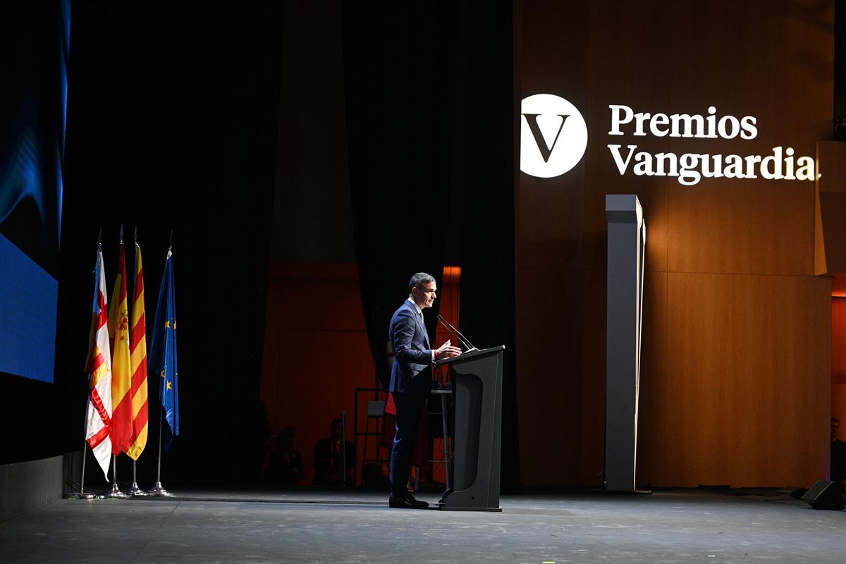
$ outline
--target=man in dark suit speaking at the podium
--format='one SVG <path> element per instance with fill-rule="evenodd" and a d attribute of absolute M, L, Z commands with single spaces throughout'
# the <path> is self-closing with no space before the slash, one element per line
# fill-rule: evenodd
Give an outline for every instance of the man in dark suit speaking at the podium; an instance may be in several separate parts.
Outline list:
<path fill-rule="evenodd" d="M 437 298 L 435 279 L 418 272 L 409 281 L 409 298 L 399 306 L 388 328 L 393 346 L 390 392 L 397 407 L 397 434 L 391 451 L 390 507 L 423 509 L 426 501 L 418 501 L 405 485 L 411 471 L 411 452 L 417 437 L 420 412 L 431 392 L 431 364 L 435 359 L 448 359 L 461 354 L 461 349 L 444 342 L 433 349 L 423 323 L 423 309 L 431 308 Z"/>

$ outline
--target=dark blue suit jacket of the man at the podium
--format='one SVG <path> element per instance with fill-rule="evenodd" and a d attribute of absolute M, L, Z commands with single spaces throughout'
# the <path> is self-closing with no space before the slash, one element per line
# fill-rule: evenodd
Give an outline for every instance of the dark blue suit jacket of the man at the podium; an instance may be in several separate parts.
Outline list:
<path fill-rule="evenodd" d="M 393 345 L 390 392 L 428 396 L 431 392 L 431 345 L 417 306 L 406 299 L 391 318 Z"/>

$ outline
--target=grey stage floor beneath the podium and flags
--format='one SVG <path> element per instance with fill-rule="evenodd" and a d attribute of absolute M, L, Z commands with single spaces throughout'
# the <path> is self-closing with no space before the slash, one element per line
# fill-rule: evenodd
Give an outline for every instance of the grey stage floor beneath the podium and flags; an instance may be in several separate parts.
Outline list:
<path fill-rule="evenodd" d="M 497 513 L 390 509 L 354 490 L 174 490 L 0 523 L 0 562 L 846 561 L 846 512 L 774 491 L 503 496 Z"/>

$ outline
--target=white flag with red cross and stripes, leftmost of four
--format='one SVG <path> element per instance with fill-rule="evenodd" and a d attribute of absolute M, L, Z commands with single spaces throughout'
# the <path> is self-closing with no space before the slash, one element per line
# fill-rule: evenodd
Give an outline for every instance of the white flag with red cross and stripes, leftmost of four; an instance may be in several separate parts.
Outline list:
<path fill-rule="evenodd" d="M 106 275 L 102 250 L 97 248 L 94 268 L 94 306 L 91 310 L 91 343 L 85 371 L 88 377 L 88 404 L 85 410 L 85 441 L 108 481 L 112 456 L 112 355 L 108 344 Z"/>

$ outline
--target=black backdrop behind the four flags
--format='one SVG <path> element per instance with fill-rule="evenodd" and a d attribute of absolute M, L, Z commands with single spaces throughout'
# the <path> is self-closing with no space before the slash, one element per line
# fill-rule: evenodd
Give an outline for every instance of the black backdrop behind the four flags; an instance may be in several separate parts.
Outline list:
<path fill-rule="evenodd" d="M 8 417 L 26 420 L 30 432 L 4 452 L 4 463 L 82 446 L 96 238 L 102 227 L 111 294 L 124 223 L 129 271 L 139 227 L 148 338 L 173 229 L 182 435 L 166 476 L 250 478 L 244 451 L 261 435 L 283 9 L 200 6 L 72 6 L 56 383 L 5 386 L 36 404 L 20 402 Z M 149 381 L 155 422 L 158 381 Z M 4 440 L 18 431 L 4 429 Z M 156 433 L 152 426 L 140 458 L 146 479 Z M 129 479 L 122 467 L 118 479 Z"/>

